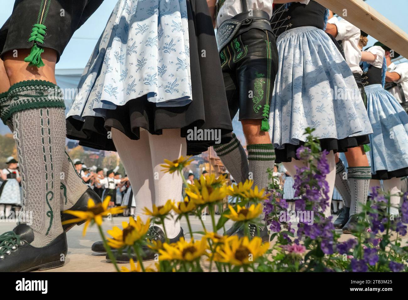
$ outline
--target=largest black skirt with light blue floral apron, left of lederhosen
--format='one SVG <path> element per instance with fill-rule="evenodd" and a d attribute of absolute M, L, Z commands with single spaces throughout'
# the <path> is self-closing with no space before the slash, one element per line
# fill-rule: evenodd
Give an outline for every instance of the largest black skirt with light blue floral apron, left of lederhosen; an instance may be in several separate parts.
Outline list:
<path fill-rule="evenodd" d="M 111 128 L 132 140 L 140 130 L 213 129 L 232 124 L 208 5 L 201 0 L 119 0 L 86 65 L 67 115 L 67 136 L 115 151 Z M 187 153 L 215 144 L 187 140 Z"/>

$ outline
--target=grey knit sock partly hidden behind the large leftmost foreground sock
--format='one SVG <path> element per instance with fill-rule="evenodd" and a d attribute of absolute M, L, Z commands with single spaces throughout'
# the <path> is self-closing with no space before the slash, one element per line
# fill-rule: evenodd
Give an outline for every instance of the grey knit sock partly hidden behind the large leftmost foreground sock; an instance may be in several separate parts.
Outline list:
<path fill-rule="evenodd" d="M 61 211 L 70 209 L 88 189 L 81 176 L 75 170 L 67 151 L 64 151 L 61 172 Z"/>

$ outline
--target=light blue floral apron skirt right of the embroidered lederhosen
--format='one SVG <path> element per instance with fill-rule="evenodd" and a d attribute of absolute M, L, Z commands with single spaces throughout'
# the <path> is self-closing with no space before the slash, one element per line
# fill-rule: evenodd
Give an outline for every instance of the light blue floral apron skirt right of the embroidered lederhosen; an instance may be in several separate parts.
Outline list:
<path fill-rule="evenodd" d="M 370 122 L 353 73 L 329 36 L 299 27 L 277 39 L 279 65 L 269 116 L 278 162 L 290 161 L 315 128 L 322 149 L 344 152 L 367 144 Z"/>

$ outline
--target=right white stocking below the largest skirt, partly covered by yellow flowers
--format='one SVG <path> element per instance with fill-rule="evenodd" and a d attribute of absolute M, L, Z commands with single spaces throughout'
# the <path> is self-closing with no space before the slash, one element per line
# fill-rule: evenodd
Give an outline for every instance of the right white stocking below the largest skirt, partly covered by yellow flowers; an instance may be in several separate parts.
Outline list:
<path fill-rule="evenodd" d="M 180 137 L 180 129 L 164 129 L 162 135 L 149 135 L 153 174 L 155 186 L 155 204 L 164 205 L 167 200 L 175 202 L 182 200 L 183 180 L 177 173 L 169 174 L 161 171 L 164 159 L 176 160 L 185 156 L 186 139 Z M 158 178 L 158 179 L 157 179 Z M 165 220 L 167 238 L 175 238 L 180 233 L 180 221 Z"/>

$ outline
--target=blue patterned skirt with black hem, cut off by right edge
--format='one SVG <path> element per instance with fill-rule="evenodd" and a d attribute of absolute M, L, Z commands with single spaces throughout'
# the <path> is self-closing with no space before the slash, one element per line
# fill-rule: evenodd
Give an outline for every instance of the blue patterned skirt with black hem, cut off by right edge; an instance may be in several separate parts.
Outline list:
<path fill-rule="evenodd" d="M 408 115 L 381 84 L 364 87 L 367 111 L 374 133 L 370 135 L 373 179 L 408 175 Z"/>

